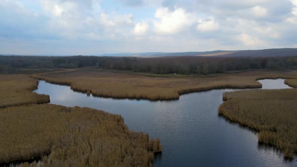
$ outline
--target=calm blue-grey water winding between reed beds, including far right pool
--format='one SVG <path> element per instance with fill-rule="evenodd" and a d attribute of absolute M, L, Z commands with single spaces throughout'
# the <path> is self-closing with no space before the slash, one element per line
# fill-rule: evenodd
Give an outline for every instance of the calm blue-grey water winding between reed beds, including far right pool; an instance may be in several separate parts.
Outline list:
<path fill-rule="evenodd" d="M 289 88 L 283 79 L 259 80 L 264 89 Z M 257 132 L 218 115 L 222 93 L 212 90 L 174 101 L 118 100 L 73 92 L 70 87 L 40 81 L 36 93 L 51 104 L 81 106 L 120 114 L 131 130 L 159 137 L 162 154 L 154 166 L 297 166 L 270 146 L 258 144 Z"/>

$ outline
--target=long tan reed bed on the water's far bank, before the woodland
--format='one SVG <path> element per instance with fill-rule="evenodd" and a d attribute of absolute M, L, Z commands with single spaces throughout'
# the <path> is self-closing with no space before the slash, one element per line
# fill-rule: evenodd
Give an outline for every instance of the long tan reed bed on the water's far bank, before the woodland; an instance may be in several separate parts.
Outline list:
<path fill-rule="evenodd" d="M 249 71 L 210 77 L 150 77 L 141 74 L 75 69 L 33 75 L 80 92 L 112 98 L 178 99 L 181 94 L 222 88 L 261 88 L 259 78 L 297 78 L 297 71 Z"/>

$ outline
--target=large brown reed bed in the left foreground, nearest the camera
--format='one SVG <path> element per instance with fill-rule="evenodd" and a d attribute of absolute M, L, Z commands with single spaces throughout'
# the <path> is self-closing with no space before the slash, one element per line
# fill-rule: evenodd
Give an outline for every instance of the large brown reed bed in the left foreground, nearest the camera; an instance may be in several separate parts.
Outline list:
<path fill-rule="evenodd" d="M 162 149 L 121 116 L 90 108 L 7 107 L 0 127 L 0 163 L 45 155 L 43 166 L 151 166 Z"/>

